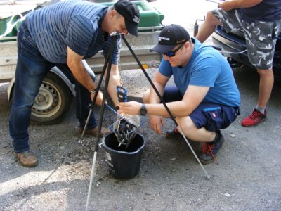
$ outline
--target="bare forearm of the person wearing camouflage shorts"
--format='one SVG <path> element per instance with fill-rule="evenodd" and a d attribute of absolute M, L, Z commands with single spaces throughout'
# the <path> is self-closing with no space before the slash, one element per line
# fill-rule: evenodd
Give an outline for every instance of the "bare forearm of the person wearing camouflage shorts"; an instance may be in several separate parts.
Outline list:
<path fill-rule="evenodd" d="M 224 11 L 230 11 L 235 8 L 247 8 L 260 4 L 263 0 L 228 0 L 218 4 Z"/>

